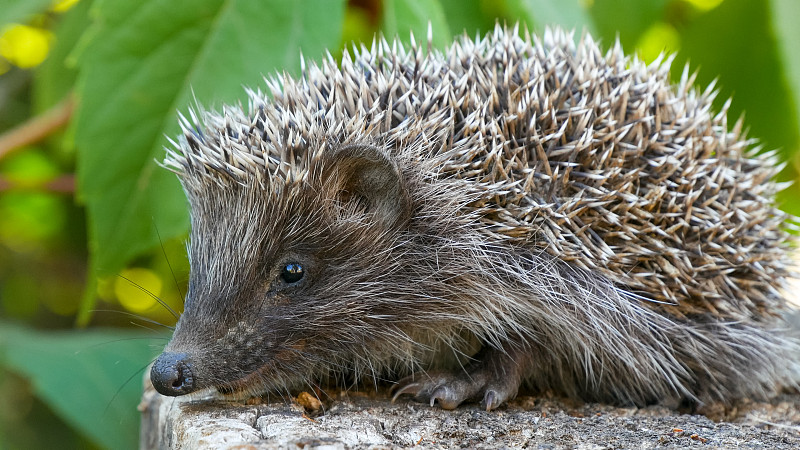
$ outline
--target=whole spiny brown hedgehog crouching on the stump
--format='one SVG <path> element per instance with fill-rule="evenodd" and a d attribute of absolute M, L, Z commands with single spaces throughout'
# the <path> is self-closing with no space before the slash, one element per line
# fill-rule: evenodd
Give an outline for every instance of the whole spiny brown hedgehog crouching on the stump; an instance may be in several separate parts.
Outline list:
<path fill-rule="evenodd" d="M 492 410 L 523 387 L 649 405 L 795 383 L 780 166 L 713 86 L 558 28 L 430 41 L 180 117 L 162 164 L 191 272 L 158 392 L 388 380 Z"/>

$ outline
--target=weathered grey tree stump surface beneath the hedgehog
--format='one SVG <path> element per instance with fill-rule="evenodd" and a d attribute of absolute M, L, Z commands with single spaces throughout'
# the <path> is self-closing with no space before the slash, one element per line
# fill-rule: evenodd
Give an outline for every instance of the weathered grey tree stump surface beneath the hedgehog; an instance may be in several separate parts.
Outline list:
<path fill-rule="evenodd" d="M 304 394 L 301 394 L 303 396 Z M 329 392 L 230 402 L 164 397 L 145 381 L 142 449 L 346 448 L 800 448 L 800 395 L 706 415 L 662 406 L 619 408 L 522 396 L 496 411 L 455 411 L 386 392 Z M 308 400 L 310 399 L 310 400 Z"/>

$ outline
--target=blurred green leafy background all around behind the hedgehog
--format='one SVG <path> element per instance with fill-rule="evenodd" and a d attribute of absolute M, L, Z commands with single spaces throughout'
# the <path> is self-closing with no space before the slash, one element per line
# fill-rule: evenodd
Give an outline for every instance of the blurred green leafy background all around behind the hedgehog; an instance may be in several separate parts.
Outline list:
<path fill-rule="evenodd" d="M 245 101 L 242 85 L 297 74 L 301 52 L 340 58 L 378 32 L 424 42 L 430 26 L 443 48 L 497 22 L 559 24 L 648 62 L 677 52 L 674 75 L 688 62 L 699 86 L 716 80 L 717 107 L 733 97 L 729 120 L 746 112 L 794 180 L 798 20 L 795 0 L 0 0 L 0 143 L 79 105 L 0 146 L 0 448 L 136 446 L 153 323 L 174 324 L 188 274 L 186 202 L 155 160 L 195 98 Z M 780 197 L 794 214 L 798 189 Z"/>

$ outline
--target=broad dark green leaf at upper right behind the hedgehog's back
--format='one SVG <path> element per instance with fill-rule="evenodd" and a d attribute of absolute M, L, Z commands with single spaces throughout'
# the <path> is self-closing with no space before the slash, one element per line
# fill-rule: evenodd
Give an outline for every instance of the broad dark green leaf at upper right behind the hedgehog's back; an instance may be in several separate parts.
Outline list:
<path fill-rule="evenodd" d="M 673 64 L 674 75 L 691 61 L 693 69 L 699 68 L 698 86 L 718 79 L 717 108 L 733 98 L 731 124 L 745 113 L 749 135 L 766 148 L 786 151 L 797 146 L 792 91 L 783 75 L 765 2 L 725 0 L 678 31 L 681 50 Z"/>

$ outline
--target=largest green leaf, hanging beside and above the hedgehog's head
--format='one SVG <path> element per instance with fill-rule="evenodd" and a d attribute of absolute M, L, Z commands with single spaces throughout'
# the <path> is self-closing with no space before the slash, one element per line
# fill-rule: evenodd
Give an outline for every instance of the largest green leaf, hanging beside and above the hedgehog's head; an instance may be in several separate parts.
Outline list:
<path fill-rule="evenodd" d="M 98 1 L 79 57 L 78 187 L 88 212 L 91 266 L 113 274 L 188 228 L 175 176 L 156 166 L 176 110 L 245 98 L 242 85 L 299 71 L 340 41 L 344 1 Z M 91 276 L 91 275 L 90 275 Z M 90 280 L 91 284 L 91 280 Z M 80 323 L 94 302 L 87 291 Z"/>

